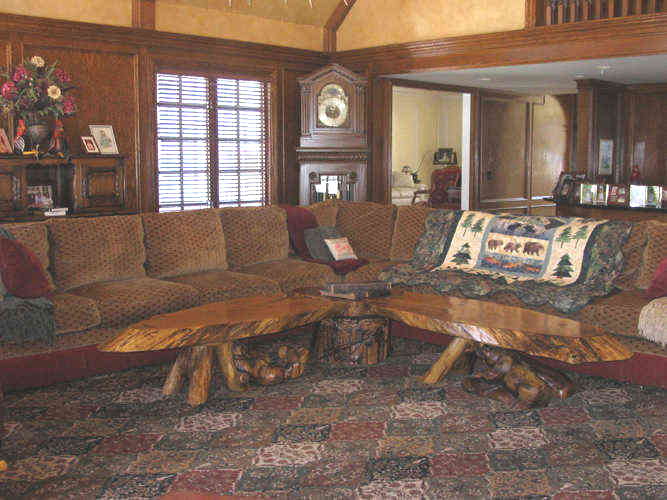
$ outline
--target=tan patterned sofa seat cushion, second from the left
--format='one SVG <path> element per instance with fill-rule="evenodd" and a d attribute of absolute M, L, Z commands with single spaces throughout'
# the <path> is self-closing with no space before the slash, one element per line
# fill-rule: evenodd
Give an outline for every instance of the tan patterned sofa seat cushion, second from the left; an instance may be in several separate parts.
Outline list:
<path fill-rule="evenodd" d="M 199 292 L 195 288 L 153 278 L 91 283 L 71 293 L 95 301 L 102 326 L 129 325 L 199 304 Z"/>

